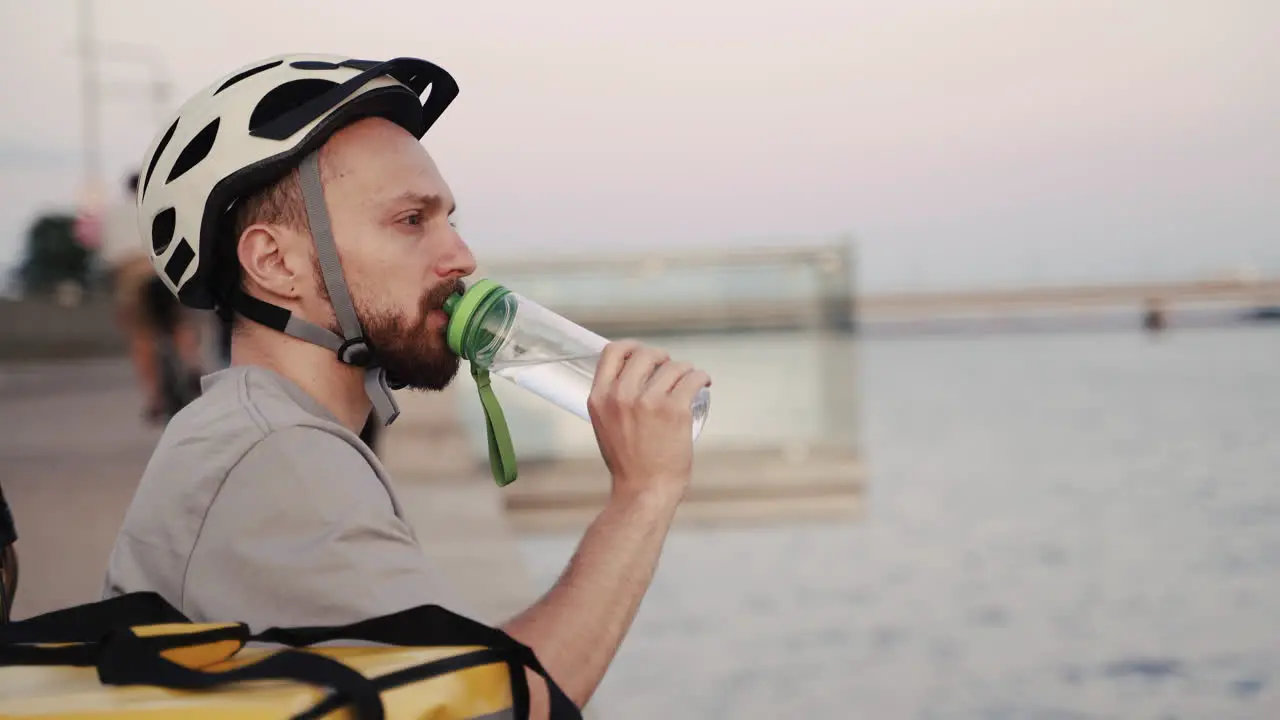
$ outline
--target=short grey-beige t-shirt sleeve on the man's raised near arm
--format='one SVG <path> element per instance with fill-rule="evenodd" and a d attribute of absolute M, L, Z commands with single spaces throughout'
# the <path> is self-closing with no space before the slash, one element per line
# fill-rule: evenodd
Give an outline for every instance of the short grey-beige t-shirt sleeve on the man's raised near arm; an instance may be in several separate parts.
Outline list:
<path fill-rule="evenodd" d="M 189 616 L 255 630 L 429 603 L 449 607 L 453 598 L 369 461 L 306 427 L 270 433 L 232 469 L 183 584 Z"/>

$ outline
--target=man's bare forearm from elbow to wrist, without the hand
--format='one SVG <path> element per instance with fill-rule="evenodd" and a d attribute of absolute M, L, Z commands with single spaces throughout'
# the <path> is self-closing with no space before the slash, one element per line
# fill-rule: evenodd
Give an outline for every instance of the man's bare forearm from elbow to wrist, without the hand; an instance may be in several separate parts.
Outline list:
<path fill-rule="evenodd" d="M 556 585 L 504 626 L 531 647 L 556 683 L 586 705 L 649 589 L 678 498 L 612 498 Z"/>

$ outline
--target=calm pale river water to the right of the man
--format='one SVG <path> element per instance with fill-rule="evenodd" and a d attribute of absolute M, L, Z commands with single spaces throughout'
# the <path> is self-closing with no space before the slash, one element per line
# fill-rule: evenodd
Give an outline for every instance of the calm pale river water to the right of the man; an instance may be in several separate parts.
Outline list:
<path fill-rule="evenodd" d="M 603 720 L 1280 717 L 1280 331 L 864 340 L 851 372 L 865 514 L 673 532 Z M 522 541 L 539 583 L 575 541 Z"/>

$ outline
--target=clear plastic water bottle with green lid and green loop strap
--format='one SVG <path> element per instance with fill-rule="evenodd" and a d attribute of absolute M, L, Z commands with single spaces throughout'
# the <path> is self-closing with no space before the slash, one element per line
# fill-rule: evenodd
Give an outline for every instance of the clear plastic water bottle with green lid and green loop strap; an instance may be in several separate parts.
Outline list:
<path fill-rule="evenodd" d="M 503 482 L 495 456 L 500 455 L 498 446 L 503 439 L 509 446 L 509 437 L 502 437 L 506 421 L 492 391 L 486 393 L 488 375 L 507 379 L 590 421 L 586 400 L 600 352 L 609 341 L 489 279 L 452 296 L 444 311 L 449 315 L 445 331 L 449 348 L 471 364 L 471 374 L 480 386 L 494 478 L 507 484 L 515 479 L 515 457 L 504 473 L 509 479 Z M 692 404 L 694 439 L 701 433 L 709 409 L 710 392 L 703 388 Z M 495 421 L 502 427 L 495 427 Z"/>

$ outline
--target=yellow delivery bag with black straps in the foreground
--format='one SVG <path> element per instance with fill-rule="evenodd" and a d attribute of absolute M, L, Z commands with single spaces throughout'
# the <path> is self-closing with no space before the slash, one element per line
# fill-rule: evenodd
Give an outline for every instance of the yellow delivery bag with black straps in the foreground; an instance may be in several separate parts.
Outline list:
<path fill-rule="evenodd" d="M 252 634 L 131 593 L 0 626 L 0 717 L 524 720 L 526 667 L 581 720 L 530 648 L 439 606 Z"/>

